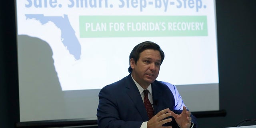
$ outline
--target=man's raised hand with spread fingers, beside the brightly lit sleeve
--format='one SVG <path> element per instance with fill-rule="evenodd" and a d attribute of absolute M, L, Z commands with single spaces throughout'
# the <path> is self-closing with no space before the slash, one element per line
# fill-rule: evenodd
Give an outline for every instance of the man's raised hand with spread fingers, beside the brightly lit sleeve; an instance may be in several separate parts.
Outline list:
<path fill-rule="evenodd" d="M 175 114 L 174 112 L 170 111 L 172 116 L 174 117 L 175 121 L 181 128 L 189 128 L 191 125 L 192 118 L 190 117 L 190 111 L 187 111 L 187 108 L 183 106 L 183 110 L 181 114 Z"/>

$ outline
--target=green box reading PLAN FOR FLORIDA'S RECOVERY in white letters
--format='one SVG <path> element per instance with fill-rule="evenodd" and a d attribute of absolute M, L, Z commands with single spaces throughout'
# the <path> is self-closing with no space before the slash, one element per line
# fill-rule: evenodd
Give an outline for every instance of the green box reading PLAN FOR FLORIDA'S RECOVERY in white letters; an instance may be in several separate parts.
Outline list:
<path fill-rule="evenodd" d="M 80 38 L 208 36 L 207 16 L 80 16 Z"/>

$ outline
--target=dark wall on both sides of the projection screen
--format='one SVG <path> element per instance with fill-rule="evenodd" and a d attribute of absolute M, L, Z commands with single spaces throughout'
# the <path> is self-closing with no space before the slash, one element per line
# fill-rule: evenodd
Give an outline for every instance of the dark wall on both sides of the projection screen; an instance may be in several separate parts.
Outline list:
<path fill-rule="evenodd" d="M 256 119 L 256 1 L 216 0 L 220 109 L 225 117 L 199 118 L 200 128 Z M 0 4 L 0 127 L 19 120 L 14 0 Z"/>

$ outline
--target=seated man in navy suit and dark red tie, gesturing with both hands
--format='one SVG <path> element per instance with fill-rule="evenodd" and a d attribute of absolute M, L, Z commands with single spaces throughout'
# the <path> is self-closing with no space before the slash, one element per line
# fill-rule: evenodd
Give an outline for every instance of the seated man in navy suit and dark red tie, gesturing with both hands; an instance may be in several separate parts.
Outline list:
<path fill-rule="evenodd" d="M 129 59 L 130 74 L 100 90 L 98 127 L 196 128 L 196 118 L 184 105 L 176 87 L 156 80 L 164 60 L 158 44 L 138 44 Z M 144 90 L 148 92 L 146 96 Z"/>

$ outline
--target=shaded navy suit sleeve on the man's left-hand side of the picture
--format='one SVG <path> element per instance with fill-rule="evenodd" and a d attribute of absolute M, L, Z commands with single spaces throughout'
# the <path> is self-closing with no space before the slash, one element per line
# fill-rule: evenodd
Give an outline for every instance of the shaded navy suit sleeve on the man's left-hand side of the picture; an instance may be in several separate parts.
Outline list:
<path fill-rule="evenodd" d="M 116 92 L 109 88 L 102 88 L 99 93 L 97 109 L 98 128 L 140 128 L 142 121 L 124 121 L 119 117 L 122 108 L 116 103 Z"/>

